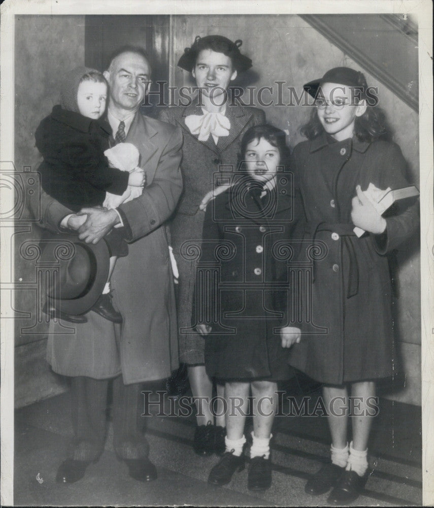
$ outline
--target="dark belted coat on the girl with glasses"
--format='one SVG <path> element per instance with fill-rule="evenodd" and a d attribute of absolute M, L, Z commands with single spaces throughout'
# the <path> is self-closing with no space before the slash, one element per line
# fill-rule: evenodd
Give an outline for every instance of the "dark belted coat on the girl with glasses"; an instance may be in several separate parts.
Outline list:
<path fill-rule="evenodd" d="M 324 333 L 303 334 L 289 363 L 334 385 L 391 375 L 396 355 L 386 254 L 417 230 L 418 202 L 393 205 L 386 233 L 357 238 L 351 201 L 358 184 L 362 190 L 371 182 L 381 189 L 408 186 L 402 152 L 393 143 L 336 142 L 323 133 L 295 147 L 291 168 L 303 196 L 305 239 L 321 240 L 326 249 L 314 262 L 312 284 L 313 323 Z"/>

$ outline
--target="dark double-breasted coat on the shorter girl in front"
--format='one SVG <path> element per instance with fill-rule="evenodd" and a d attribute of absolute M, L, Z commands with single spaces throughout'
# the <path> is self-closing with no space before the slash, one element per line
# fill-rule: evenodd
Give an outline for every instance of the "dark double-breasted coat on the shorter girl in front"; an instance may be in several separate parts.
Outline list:
<path fill-rule="evenodd" d="M 281 177 L 277 177 L 278 182 Z M 214 310 L 219 304 L 215 310 L 218 323 L 210 323 L 212 333 L 205 337 L 209 376 L 279 380 L 293 373 L 288 369 L 287 350 L 281 346 L 279 333 L 288 288 L 276 285 L 285 277 L 287 261 L 275 255 L 274 247 L 294 236 L 303 211 L 299 195 L 293 198 L 287 189 L 278 183 L 264 198 L 262 208 L 246 185 L 236 184 L 207 208 L 198 274 L 215 269 L 219 272 L 218 282 L 212 277 L 209 281 L 208 302 Z M 193 324 L 195 311 L 204 302 L 200 280 L 198 276 Z"/>

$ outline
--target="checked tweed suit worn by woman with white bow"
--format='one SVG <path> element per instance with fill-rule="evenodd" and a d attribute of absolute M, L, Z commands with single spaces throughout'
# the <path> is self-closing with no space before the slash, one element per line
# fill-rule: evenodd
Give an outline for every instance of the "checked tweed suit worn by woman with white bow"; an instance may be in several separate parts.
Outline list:
<path fill-rule="evenodd" d="M 203 115 L 202 108 L 193 104 L 163 110 L 159 119 L 182 129 L 183 193 L 170 223 L 171 244 L 179 271 L 178 327 L 180 361 L 194 365 L 204 363 L 204 339 L 191 329 L 191 302 L 195 284 L 196 262 L 188 255 L 188 245 L 200 242 L 205 212 L 199 210 L 205 195 L 226 182 L 219 175 L 236 171 L 243 134 L 253 125 L 265 122 L 262 110 L 239 104 L 226 106 L 230 121 L 229 135 L 220 137 L 217 144 L 210 135 L 199 141 L 191 134 L 185 118 Z"/>

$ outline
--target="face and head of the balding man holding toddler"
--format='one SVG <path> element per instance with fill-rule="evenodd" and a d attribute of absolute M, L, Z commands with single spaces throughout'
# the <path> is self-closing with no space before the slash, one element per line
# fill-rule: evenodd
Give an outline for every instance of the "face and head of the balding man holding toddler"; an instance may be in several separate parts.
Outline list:
<path fill-rule="evenodd" d="M 149 63 L 137 53 L 121 53 L 104 76 L 110 86 L 110 105 L 126 111 L 137 111 L 150 87 Z"/>

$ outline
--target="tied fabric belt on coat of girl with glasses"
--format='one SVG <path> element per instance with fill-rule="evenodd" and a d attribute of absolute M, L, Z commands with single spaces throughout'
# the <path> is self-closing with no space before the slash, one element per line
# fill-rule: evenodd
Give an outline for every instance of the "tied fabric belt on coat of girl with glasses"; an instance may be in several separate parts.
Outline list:
<path fill-rule="evenodd" d="M 338 233 L 338 235 L 342 237 L 343 244 L 347 249 L 349 257 L 347 298 L 351 298 L 352 296 L 357 295 L 359 290 L 359 267 L 357 264 L 356 251 L 354 247 L 356 235 L 353 231 L 353 226 L 351 224 L 319 222 L 316 224 L 308 223 L 305 227 L 305 233 L 309 234 L 309 237 L 312 238 L 312 240 L 315 240 L 315 237 L 319 231 L 331 231 L 333 233 Z M 314 261 L 313 263 L 314 263 L 313 269 L 313 281 L 314 281 L 316 272 L 316 262 Z"/>

